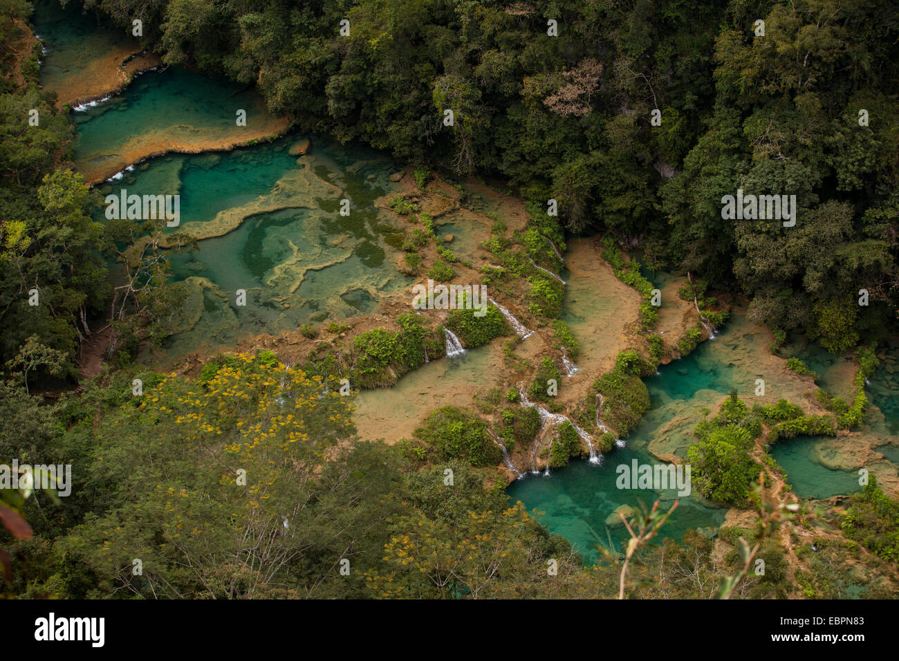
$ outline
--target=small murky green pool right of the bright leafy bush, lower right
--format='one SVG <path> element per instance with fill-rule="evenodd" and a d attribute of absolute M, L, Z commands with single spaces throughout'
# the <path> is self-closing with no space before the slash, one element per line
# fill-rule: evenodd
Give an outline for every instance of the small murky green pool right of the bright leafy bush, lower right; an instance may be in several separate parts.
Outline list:
<path fill-rule="evenodd" d="M 787 482 L 800 498 L 846 496 L 859 490 L 859 474 L 852 470 L 834 470 L 818 462 L 816 448 L 823 439 L 797 436 L 780 439 L 770 454 L 787 471 Z"/>

